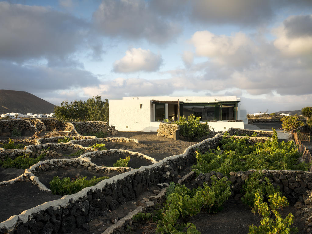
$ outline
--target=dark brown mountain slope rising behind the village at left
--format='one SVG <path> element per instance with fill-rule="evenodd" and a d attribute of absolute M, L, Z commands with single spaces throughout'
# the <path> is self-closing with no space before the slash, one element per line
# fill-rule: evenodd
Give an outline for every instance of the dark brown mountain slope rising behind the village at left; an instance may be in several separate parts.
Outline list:
<path fill-rule="evenodd" d="M 0 90 L 0 114 L 9 112 L 47 114 L 54 112 L 54 106 L 27 92 Z"/>

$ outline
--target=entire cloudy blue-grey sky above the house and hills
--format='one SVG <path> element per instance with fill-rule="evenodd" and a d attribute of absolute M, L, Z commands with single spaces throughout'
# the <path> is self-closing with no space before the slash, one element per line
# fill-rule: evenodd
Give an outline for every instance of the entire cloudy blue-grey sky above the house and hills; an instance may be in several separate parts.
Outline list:
<path fill-rule="evenodd" d="M 312 105 L 310 0 L 0 1 L 0 89 L 63 100 L 241 97 Z"/>

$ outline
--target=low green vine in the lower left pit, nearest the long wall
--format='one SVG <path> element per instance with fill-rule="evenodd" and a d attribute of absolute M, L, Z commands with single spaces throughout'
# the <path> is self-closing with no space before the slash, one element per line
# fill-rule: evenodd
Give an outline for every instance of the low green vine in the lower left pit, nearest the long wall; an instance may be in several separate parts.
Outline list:
<path fill-rule="evenodd" d="M 100 178 L 92 177 L 90 180 L 86 180 L 85 177 L 76 177 L 75 179 L 70 179 L 69 177 L 60 179 L 58 176 L 53 177 L 50 181 L 50 189 L 52 194 L 55 195 L 66 195 L 79 192 L 81 189 L 93 186 L 104 179 L 108 179 L 108 176 L 103 176 Z"/>

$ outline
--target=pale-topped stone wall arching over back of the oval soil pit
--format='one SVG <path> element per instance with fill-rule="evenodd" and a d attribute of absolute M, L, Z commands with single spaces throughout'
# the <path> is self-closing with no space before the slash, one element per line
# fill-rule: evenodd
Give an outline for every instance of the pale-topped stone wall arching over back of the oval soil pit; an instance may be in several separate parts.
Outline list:
<path fill-rule="evenodd" d="M 149 157 L 145 154 L 141 154 L 138 152 L 133 152 L 133 151 L 125 150 L 125 149 L 107 149 L 107 150 L 101 150 L 101 151 L 88 152 L 88 153 L 81 155 L 79 158 L 89 157 L 89 158 L 91 158 L 91 161 L 92 161 L 92 158 L 100 158 L 103 156 L 109 157 L 111 154 L 115 154 L 115 153 L 124 154 L 124 155 L 131 155 L 131 156 L 137 157 L 137 158 L 142 157 L 146 160 L 151 161 L 152 164 L 157 163 L 155 158 Z"/>

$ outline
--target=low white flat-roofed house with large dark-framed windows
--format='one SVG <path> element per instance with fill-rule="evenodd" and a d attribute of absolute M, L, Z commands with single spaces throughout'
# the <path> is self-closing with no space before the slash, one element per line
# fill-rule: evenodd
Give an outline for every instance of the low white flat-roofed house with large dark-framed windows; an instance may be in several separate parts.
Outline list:
<path fill-rule="evenodd" d="M 243 119 L 247 122 L 246 110 L 240 110 L 240 98 L 223 97 L 123 97 L 110 100 L 109 125 L 119 131 L 155 132 L 163 119 L 177 120 L 178 116 L 193 114 L 209 122 L 215 131 L 230 127 L 244 128 L 244 122 L 228 122 Z"/>

